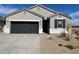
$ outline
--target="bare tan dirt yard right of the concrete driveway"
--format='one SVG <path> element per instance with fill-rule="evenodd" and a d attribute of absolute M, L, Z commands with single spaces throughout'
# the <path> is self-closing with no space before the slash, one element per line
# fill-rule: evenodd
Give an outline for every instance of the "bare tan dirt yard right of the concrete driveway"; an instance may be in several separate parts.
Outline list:
<path fill-rule="evenodd" d="M 40 38 L 40 53 L 42 54 L 78 54 L 79 39 L 75 39 L 75 35 L 71 40 L 66 41 L 56 35 L 46 35 Z M 62 46 L 59 46 L 62 44 Z M 69 49 L 65 45 L 72 45 L 75 48 Z"/>

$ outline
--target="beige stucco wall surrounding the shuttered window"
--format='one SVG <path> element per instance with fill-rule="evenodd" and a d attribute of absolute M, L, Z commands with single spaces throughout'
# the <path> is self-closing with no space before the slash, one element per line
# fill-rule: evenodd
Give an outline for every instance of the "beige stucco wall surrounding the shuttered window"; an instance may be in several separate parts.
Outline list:
<path fill-rule="evenodd" d="M 57 15 L 57 16 L 54 16 L 54 17 L 51 17 L 50 18 L 50 31 L 49 33 L 61 33 L 63 31 L 66 31 L 66 28 L 55 28 L 55 19 L 64 19 L 65 20 L 65 27 L 67 26 L 67 24 L 70 23 L 70 19 L 65 17 L 65 16 L 60 16 L 60 15 Z"/>

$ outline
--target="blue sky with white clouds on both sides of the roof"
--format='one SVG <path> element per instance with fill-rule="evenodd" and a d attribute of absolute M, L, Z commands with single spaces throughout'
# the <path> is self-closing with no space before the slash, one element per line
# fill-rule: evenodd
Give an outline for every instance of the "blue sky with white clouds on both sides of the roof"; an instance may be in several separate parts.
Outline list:
<path fill-rule="evenodd" d="M 7 15 L 21 8 L 29 8 L 35 4 L 0 4 L 0 16 Z M 72 24 L 79 25 L 79 4 L 43 4 L 56 12 L 69 15 Z"/>

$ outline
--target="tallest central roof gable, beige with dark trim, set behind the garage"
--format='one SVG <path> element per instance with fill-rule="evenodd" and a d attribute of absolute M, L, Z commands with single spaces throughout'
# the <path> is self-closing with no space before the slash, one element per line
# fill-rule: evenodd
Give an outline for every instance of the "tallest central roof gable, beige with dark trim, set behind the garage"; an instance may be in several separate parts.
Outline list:
<path fill-rule="evenodd" d="M 40 15 L 43 15 L 45 17 L 49 17 L 50 15 L 52 14 L 56 14 L 57 12 L 50 9 L 50 8 L 47 8 L 43 5 L 35 5 L 35 6 L 32 6 L 30 8 L 28 8 L 29 10 L 32 10 Z"/>

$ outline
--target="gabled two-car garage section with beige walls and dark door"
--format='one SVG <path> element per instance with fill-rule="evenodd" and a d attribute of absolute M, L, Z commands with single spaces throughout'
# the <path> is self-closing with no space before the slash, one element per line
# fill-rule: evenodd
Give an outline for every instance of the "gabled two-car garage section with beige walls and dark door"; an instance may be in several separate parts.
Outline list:
<path fill-rule="evenodd" d="M 28 10 L 21 10 L 6 16 L 5 33 L 43 33 L 43 16 Z"/>

